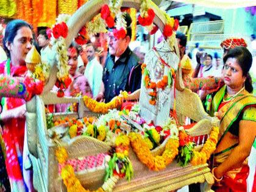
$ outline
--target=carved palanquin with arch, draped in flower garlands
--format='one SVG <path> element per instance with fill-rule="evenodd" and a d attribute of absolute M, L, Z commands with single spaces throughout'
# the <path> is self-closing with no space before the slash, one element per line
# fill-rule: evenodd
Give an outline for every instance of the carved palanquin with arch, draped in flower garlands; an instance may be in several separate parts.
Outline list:
<path fill-rule="evenodd" d="M 62 97 L 63 87 L 70 84 L 66 48 L 74 37 L 85 42 L 96 31 L 93 22 L 110 24 L 109 17 L 121 6 L 140 10 L 141 25 L 151 32 L 158 26 L 166 38 L 141 66 L 140 101 L 120 110 L 125 92 L 108 104 L 87 96 Z M 38 191 L 170 191 L 197 182 L 210 191 L 213 177 L 207 160 L 215 151 L 219 121 L 205 113 L 197 94 L 184 88 L 177 26 L 151 1 L 88 1 L 66 23 L 55 24 L 51 43 L 56 60 L 48 80 L 42 77 L 43 93 L 26 104 Z M 40 69 L 47 71 L 43 64 L 36 66 L 37 79 Z M 51 91 L 54 85 L 57 93 Z M 58 105 L 69 107 L 60 112 Z M 196 123 L 184 126 L 185 117 Z"/>

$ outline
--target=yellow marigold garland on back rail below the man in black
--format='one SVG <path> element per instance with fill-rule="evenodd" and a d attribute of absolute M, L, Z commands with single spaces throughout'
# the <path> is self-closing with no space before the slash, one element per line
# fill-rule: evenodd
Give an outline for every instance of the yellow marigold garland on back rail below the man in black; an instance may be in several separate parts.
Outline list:
<path fill-rule="evenodd" d="M 91 112 L 105 114 L 108 113 L 109 109 L 121 107 L 123 101 L 122 98 L 116 96 L 110 102 L 105 104 L 104 102 L 97 102 L 88 96 L 84 96 L 85 106 L 89 108 Z"/>

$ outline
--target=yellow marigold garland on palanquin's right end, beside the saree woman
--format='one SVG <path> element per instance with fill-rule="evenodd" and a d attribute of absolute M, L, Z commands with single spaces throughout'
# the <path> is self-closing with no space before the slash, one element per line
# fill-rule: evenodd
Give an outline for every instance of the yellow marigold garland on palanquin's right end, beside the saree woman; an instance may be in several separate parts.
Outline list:
<path fill-rule="evenodd" d="M 207 162 L 210 155 L 215 151 L 218 142 L 219 127 L 213 127 L 210 137 L 205 142 L 200 152 L 193 151 L 194 156 L 191 159 L 191 165 L 201 165 Z"/>

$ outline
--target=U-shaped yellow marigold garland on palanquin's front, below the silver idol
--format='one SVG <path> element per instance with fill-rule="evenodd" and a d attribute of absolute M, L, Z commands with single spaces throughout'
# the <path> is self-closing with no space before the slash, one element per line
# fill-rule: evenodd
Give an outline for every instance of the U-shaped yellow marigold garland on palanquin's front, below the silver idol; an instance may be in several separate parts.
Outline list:
<path fill-rule="evenodd" d="M 149 169 L 154 171 L 165 169 L 179 152 L 179 141 L 176 139 L 169 138 L 163 154 L 156 157 L 151 154 L 148 144 L 139 133 L 129 133 L 129 139 L 133 151 L 137 154 L 141 163 L 144 163 Z"/>

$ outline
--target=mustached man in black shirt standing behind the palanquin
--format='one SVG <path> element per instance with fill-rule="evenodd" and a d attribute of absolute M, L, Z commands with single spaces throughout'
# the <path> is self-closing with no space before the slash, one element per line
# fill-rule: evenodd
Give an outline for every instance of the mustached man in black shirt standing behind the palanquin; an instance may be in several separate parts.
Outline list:
<path fill-rule="evenodd" d="M 130 24 L 132 19 L 128 13 L 123 13 L 126 20 L 126 36 L 117 38 L 114 29 L 108 29 L 108 55 L 103 71 L 105 87 L 105 102 L 111 101 L 121 90 L 133 92 L 141 85 L 141 68 L 138 57 L 130 50 L 129 43 L 132 36 Z"/>

